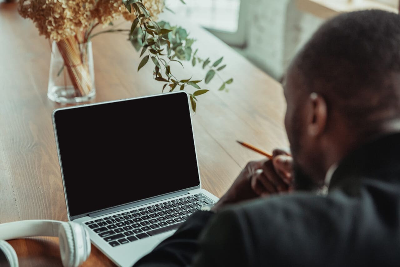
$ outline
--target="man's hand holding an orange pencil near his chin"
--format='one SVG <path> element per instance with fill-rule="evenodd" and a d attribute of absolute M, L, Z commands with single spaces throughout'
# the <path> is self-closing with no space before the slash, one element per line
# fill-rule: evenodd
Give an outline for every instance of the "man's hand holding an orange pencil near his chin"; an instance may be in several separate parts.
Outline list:
<path fill-rule="evenodd" d="M 249 162 L 212 210 L 219 210 L 226 204 L 292 190 L 292 156 L 278 149 L 272 155 L 272 160 Z"/>

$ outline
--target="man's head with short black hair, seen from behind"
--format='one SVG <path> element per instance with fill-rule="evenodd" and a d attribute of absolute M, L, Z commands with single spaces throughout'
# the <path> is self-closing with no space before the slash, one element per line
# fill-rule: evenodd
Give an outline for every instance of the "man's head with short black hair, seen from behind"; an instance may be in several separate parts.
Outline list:
<path fill-rule="evenodd" d="M 322 183 L 351 150 L 400 128 L 400 16 L 365 10 L 328 20 L 292 61 L 284 93 L 296 180 Z"/>

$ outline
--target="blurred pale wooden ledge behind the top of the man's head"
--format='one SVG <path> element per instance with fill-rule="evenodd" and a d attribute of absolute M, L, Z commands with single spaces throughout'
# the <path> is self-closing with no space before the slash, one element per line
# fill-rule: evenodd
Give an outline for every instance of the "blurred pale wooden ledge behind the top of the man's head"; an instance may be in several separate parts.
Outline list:
<path fill-rule="evenodd" d="M 343 12 L 382 9 L 398 13 L 398 9 L 374 0 L 296 0 L 297 7 L 320 18 L 330 18 Z"/>

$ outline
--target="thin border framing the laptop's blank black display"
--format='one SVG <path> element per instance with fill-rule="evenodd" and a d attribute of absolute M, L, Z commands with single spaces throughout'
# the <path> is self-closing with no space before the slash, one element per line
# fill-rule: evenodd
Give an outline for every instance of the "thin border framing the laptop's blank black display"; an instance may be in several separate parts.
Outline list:
<path fill-rule="evenodd" d="M 144 204 L 147 204 L 147 203 L 151 203 L 151 202 L 154 202 L 154 201 L 159 201 L 160 198 L 163 198 L 163 197 L 166 199 L 166 198 L 170 198 L 170 197 L 174 197 L 174 196 L 179 196 L 180 194 L 182 194 L 182 195 L 186 194 L 187 191 L 189 191 L 189 190 L 201 188 L 200 169 L 199 169 L 199 164 L 198 164 L 196 140 L 194 139 L 194 129 L 193 129 L 192 115 L 190 115 L 189 116 L 189 118 L 190 118 L 190 126 L 192 127 L 192 138 L 193 138 L 193 144 L 194 144 L 194 153 L 195 153 L 195 156 L 196 156 L 196 165 L 197 165 L 198 181 L 199 181 L 199 184 L 197 186 L 193 186 L 193 187 L 190 187 L 190 188 L 185 188 L 183 190 L 177 190 L 177 191 L 174 191 L 174 192 L 169 192 L 169 193 L 166 193 L 166 194 L 152 196 L 150 198 L 140 199 L 140 200 L 136 200 L 136 201 L 133 201 L 133 202 L 124 203 L 124 204 L 121 204 L 121 205 L 112 206 L 112 207 L 101 209 L 101 210 L 93 210 L 93 211 L 90 211 L 90 212 L 86 212 L 84 214 L 78 214 L 78 215 L 75 215 L 75 216 L 70 216 L 67 192 L 66 192 L 66 187 L 65 187 L 64 172 L 63 172 L 63 169 L 62 169 L 62 162 L 61 162 L 61 156 L 60 156 L 60 146 L 58 144 L 58 136 L 57 136 L 55 114 L 58 111 L 62 111 L 62 110 L 66 110 L 66 109 L 77 109 L 77 108 L 81 108 L 81 107 L 88 107 L 88 106 L 94 106 L 94 105 L 104 105 L 104 104 L 108 104 L 108 103 L 131 101 L 131 100 L 135 100 L 135 99 L 143 99 L 143 98 L 150 98 L 150 97 L 162 97 L 162 96 L 165 96 L 165 95 L 182 94 L 182 93 L 186 94 L 186 98 L 188 100 L 187 101 L 188 112 L 190 113 L 191 112 L 190 99 L 189 99 L 188 93 L 186 93 L 185 91 L 161 93 L 161 94 L 155 94 L 155 95 L 146 95 L 146 96 L 142 96 L 142 97 L 132 97 L 132 98 L 125 98 L 125 99 L 118 99 L 118 100 L 104 101 L 104 102 L 97 102 L 97 103 L 88 103 L 88 104 L 84 104 L 84 105 L 71 106 L 71 107 L 61 107 L 61 108 L 58 108 L 58 109 L 54 109 L 54 111 L 52 113 L 52 123 L 53 123 L 53 129 L 54 129 L 54 138 L 56 140 L 58 164 L 60 165 L 60 170 L 61 170 L 61 178 L 62 178 L 62 185 L 63 185 L 63 189 L 64 189 L 64 197 L 65 197 L 65 203 L 66 203 L 66 208 L 67 208 L 68 220 L 72 221 L 72 220 L 75 220 L 77 218 L 90 216 L 89 214 L 98 214 L 98 216 L 100 216 L 100 215 L 103 215 L 103 214 L 108 214 L 108 213 L 115 212 L 117 210 L 125 210 L 125 209 L 129 209 L 129 208 L 134 208 L 136 206 L 141 206 L 141 205 L 144 205 Z"/>

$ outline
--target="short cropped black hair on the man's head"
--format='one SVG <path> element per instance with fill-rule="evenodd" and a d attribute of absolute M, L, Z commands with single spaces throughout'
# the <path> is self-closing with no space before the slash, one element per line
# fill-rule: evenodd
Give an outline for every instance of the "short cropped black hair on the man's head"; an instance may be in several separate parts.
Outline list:
<path fill-rule="evenodd" d="M 400 117 L 400 16 L 363 10 L 325 22 L 292 62 L 308 93 L 355 124 Z M 389 110 L 389 111 L 388 111 Z"/>

